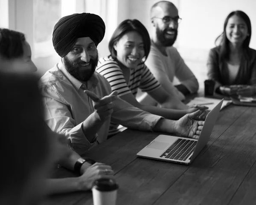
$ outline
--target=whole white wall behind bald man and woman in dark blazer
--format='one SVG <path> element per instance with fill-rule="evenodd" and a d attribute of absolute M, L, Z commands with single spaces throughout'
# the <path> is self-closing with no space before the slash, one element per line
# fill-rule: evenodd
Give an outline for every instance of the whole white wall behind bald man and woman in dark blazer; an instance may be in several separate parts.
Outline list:
<path fill-rule="evenodd" d="M 124 2 L 124 0 L 119 0 Z M 129 9 L 119 22 L 127 18 L 138 19 L 151 31 L 149 18 L 151 6 L 158 0 L 129 0 L 125 1 Z M 252 27 L 256 25 L 256 0 L 169 0 L 179 9 L 182 21 L 179 25 L 177 47 L 209 49 L 214 46 L 216 37 L 223 30 L 224 20 L 234 10 L 244 11 L 251 20 Z M 129 5 L 127 5 L 129 2 Z M 122 11 L 119 11 L 122 12 Z M 253 29 L 252 29 L 253 30 Z M 256 48 L 256 37 L 250 46 Z"/>

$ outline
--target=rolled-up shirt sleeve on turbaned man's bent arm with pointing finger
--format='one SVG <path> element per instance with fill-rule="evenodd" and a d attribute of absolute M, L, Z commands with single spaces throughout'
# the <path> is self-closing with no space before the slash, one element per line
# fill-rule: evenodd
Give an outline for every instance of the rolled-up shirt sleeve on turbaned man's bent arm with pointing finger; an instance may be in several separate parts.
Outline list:
<path fill-rule="evenodd" d="M 88 150 L 95 142 L 84 135 L 82 124 L 76 125 L 70 112 L 70 107 L 64 99 L 52 88 L 43 90 L 45 121 L 48 126 L 59 134 L 64 134 L 70 140 L 71 147 L 78 153 Z M 95 140 L 95 139 L 94 139 Z M 90 142 L 91 141 L 91 142 Z"/>

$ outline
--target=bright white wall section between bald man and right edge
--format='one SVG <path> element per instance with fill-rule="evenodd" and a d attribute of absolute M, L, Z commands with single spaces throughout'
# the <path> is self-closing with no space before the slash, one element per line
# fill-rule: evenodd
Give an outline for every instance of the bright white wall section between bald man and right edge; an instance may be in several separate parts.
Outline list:
<path fill-rule="evenodd" d="M 214 47 L 216 37 L 223 31 L 224 20 L 234 10 L 244 11 L 256 27 L 255 0 L 180 0 L 179 47 L 209 49 Z M 252 29 L 253 30 L 253 29 Z M 250 46 L 256 48 L 253 35 Z"/>

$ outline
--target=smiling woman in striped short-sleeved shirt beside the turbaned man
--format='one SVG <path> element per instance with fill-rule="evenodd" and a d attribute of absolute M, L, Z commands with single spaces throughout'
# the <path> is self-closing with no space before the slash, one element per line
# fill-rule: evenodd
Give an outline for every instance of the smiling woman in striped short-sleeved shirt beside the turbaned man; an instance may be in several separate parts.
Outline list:
<path fill-rule="evenodd" d="M 116 28 L 109 42 L 111 55 L 99 59 L 96 71 L 110 83 L 112 91 L 131 105 L 160 115 L 166 119 L 177 120 L 187 113 L 206 107 L 188 107 L 167 93 L 144 64 L 150 51 L 150 37 L 140 21 L 125 20 Z M 160 103 L 160 107 L 141 105 L 136 100 L 140 88 Z M 201 117 L 205 118 L 202 112 Z M 115 126 L 113 126 L 114 128 Z"/>

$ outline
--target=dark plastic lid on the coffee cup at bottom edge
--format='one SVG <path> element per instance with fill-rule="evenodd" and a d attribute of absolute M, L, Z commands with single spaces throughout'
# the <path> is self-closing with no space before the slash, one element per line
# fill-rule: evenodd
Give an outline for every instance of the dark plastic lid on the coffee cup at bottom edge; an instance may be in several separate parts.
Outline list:
<path fill-rule="evenodd" d="M 113 179 L 97 179 L 93 182 L 93 188 L 99 191 L 114 191 L 118 189 L 118 185 Z"/>

